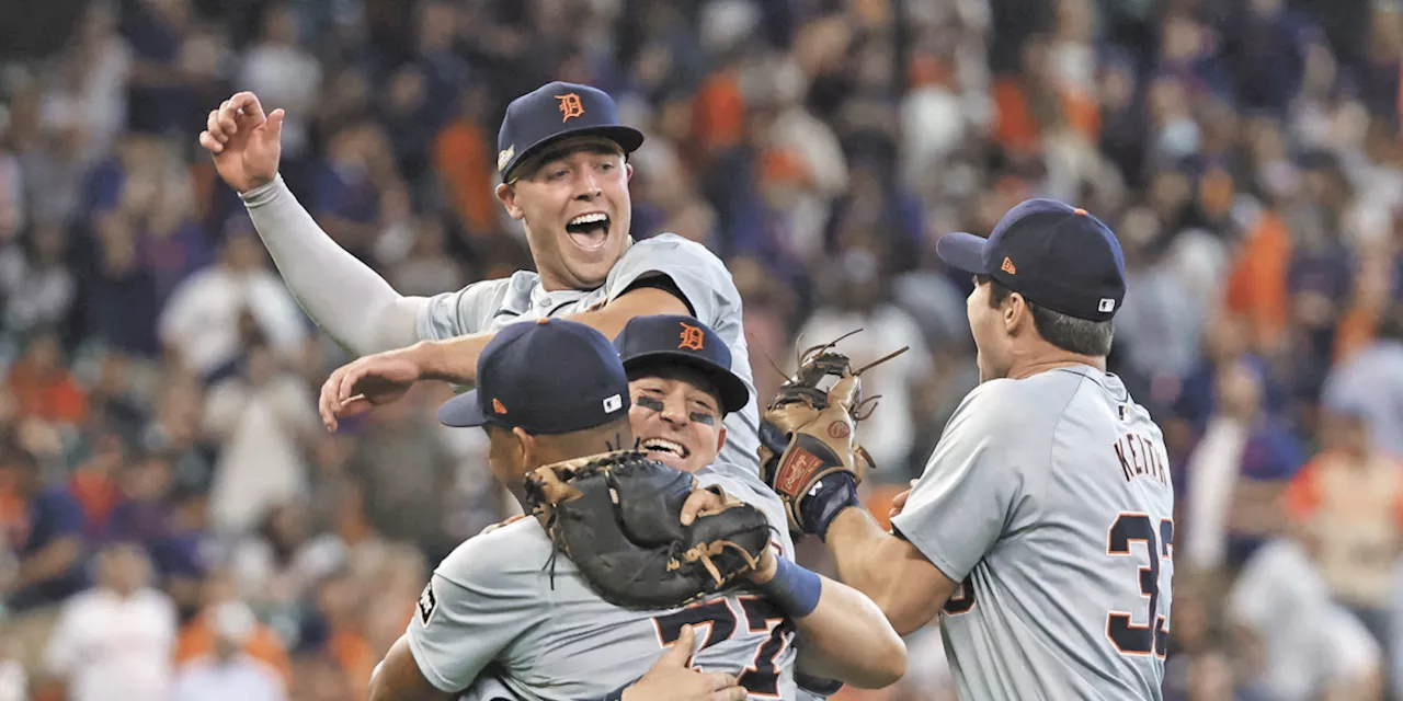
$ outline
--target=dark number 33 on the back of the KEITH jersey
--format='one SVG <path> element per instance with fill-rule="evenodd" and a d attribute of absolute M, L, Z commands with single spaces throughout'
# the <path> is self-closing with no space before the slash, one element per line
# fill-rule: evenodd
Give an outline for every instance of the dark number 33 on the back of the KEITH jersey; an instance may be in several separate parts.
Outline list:
<path fill-rule="evenodd" d="M 1149 552 L 1149 566 L 1139 568 L 1141 596 L 1149 599 L 1149 618 L 1145 625 L 1131 622 L 1131 614 L 1111 611 L 1106 618 L 1106 637 L 1122 655 L 1149 655 L 1163 658 L 1169 651 L 1166 617 L 1159 614 L 1159 562 L 1170 558 L 1174 543 L 1174 522 L 1162 519 L 1156 533 L 1155 522 L 1143 513 L 1122 513 L 1111 524 L 1107 534 L 1107 555 L 1131 555 L 1131 543 L 1143 543 Z"/>

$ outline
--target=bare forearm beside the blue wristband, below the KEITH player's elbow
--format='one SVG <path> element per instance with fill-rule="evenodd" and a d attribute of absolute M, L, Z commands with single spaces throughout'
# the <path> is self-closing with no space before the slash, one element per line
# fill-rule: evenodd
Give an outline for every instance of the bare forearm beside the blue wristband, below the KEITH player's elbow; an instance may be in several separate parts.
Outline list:
<path fill-rule="evenodd" d="M 815 669 L 857 688 L 882 688 L 906 673 L 906 645 L 881 608 L 861 592 L 824 578 L 814 613 L 794 620 Z M 812 662 L 812 660 L 811 660 Z"/>

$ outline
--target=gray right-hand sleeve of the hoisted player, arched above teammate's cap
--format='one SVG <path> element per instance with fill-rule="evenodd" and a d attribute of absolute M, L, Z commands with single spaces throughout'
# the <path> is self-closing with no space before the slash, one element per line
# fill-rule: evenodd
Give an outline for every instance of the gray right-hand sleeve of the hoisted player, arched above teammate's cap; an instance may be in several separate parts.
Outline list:
<path fill-rule="evenodd" d="M 609 301 L 633 283 L 652 276 L 672 279 L 692 307 L 692 315 L 713 328 L 741 299 L 731 272 L 716 254 L 678 234 L 658 234 L 630 247 L 609 271 L 605 282 Z"/>

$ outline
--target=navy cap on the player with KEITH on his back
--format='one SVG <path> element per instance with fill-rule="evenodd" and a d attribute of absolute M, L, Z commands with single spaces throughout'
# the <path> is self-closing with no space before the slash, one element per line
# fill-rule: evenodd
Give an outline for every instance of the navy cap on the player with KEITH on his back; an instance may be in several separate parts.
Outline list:
<path fill-rule="evenodd" d="M 1028 199 L 989 238 L 951 233 L 936 254 L 988 275 L 1028 301 L 1087 321 L 1108 321 L 1125 299 L 1125 254 L 1100 219 L 1054 199 Z"/>

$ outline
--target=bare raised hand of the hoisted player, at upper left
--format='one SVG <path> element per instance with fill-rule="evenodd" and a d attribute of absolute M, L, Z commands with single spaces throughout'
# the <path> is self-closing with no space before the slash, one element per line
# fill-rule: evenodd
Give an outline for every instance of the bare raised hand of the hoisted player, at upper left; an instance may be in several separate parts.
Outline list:
<path fill-rule="evenodd" d="M 278 175 L 283 116 L 282 109 L 265 115 L 253 93 L 236 93 L 209 112 L 199 144 L 213 154 L 215 170 L 236 192 L 248 192 Z"/>

